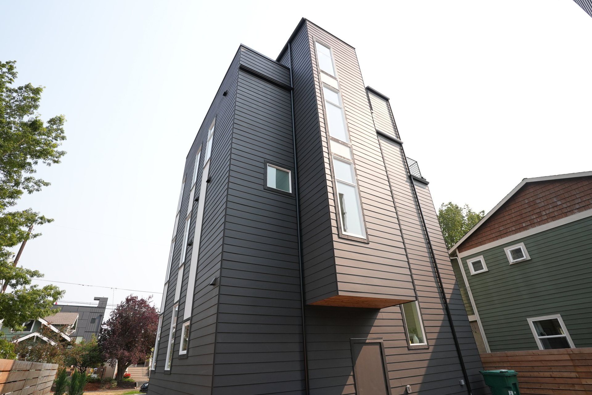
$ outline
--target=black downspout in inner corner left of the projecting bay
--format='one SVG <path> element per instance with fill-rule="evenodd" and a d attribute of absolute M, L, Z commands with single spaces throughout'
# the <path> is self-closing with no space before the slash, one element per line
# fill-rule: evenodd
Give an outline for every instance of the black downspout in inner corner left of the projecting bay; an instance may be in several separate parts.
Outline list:
<path fill-rule="evenodd" d="M 304 264 L 302 256 L 302 232 L 300 230 L 300 197 L 298 195 L 298 161 L 296 157 L 296 127 L 294 124 L 294 81 L 292 80 L 292 47 L 288 42 L 290 57 L 290 100 L 292 106 L 292 141 L 294 142 L 294 196 L 296 198 L 296 226 L 298 227 L 298 266 L 300 267 L 300 310 L 302 312 L 302 345 L 304 353 L 304 389 L 310 394 L 308 386 L 308 353 L 306 347 L 306 313 L 304 312 Z"/>

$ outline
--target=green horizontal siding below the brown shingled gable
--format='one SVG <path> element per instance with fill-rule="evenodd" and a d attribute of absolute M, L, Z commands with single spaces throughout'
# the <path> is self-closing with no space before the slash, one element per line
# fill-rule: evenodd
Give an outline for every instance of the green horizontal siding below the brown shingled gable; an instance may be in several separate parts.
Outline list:
<path fill-rule="evenodd" d="M 510 265 L 504 248 L 520 242 L 530 260 Z M 471 276 L 466 262 L 479 255 L 488 271 Z M 476 252 L 462 264 L 492 352 L 538 349 L 526 319 L 552 314 L 561 314 L 575 347 L 592 347 L 592 218 Z"/>

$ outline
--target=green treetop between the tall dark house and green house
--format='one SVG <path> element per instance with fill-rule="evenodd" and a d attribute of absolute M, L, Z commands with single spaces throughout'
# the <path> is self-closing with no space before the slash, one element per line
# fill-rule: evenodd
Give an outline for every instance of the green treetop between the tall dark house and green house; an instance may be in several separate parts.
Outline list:
<path fill-rule="evenodd" d="M 442 228 L 446 248 L 452 248 L 484 215 L 485 211 L 472 211 L 466 204 L 461 207 L 452 202 L 442 203 L 438 209 L 438 221 L 440 228 Z"/>

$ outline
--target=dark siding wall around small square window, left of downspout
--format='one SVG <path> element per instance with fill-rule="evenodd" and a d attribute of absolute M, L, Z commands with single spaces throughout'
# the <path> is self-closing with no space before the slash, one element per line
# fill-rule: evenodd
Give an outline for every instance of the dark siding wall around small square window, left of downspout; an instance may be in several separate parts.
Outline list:
<path fill-rule="evenodd" d="M 295 198 L 263 188 L 265 161 L 294 167 L 290 94 L 242 70 L 237 92 L 213 393 L 302 394 Z"/>

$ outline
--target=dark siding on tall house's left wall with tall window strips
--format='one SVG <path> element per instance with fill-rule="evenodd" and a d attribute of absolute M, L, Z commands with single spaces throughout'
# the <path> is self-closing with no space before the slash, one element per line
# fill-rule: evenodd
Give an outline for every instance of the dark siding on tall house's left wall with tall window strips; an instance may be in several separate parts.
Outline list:
<path fill-rule="evenodd" d="M 189 202 L 190 182 L 186 182 L 184 195 L 181 202 L 181 216 L 177 229 L 176 239 L 179 241 L 173 251 L 173 264 L 169 277 L 168 297 L 166 299 L 163 325 L 160 336 L 159 351 L 157 353 L 156 371 L 150 375 L 151 394 L 194 394 L 211 393 L 215 326 L 217 320 L 218 287 L 211 286 L 210 281 L 215 276 L 220 276 L 220 263 L 223 245 L 224 209 L 226 208 L 226 193 L 229 177 L 230 141 L 233 129 L 234 102 L 236 98 L 236 82 L 238 76 L 239 56 L 234 58 L 224 77 L 217 95 L 205 116 L 197 137 L 192 144 L 185 164 L 185 174 L 190 180 L 194 169 L 194 160 L 197 151 L 201 148 L 205 152 L 205 141 L 208 128 L 214 117 L 216 118 L 213 147 L 210 160 L 209 176 L 206 196 L 199 196 L 200 183 L 204 166 L 204 155 L 201 155 L 201 164 L 198 167 L 195 198 L 205 199 L 204 217 L 202 228 L 195 229 L 197 217 L 197 202 Z M 228 91 L 227 96 L 222 93 Z M 184 219 L 189 209 L 192 209 L 192 220 L 189 228 L 189 240 L 194 238 L 195 232 L 201 232 L 199 259 L 197 262 L 197 275 L 195 279 L 189 279 L 189 263 L 192 254 L 195 254 L 192 246 L 187 248 L 185 270 L 182 277 L 181 297 L 179 298 L 179 319 L 176 325 L 175 345 L 173 361 L 170 373 L 165 373 L 166 349 L 170 332 L 170 319 L 176 287 L 176 273 L 181 258 L 181 240 L 184 232 Z M 189 281 L 195 281 L 194 294 L 186 295 Z M 186 358 L 179 358 L 179 346 L 181 343 L 182 322 L 185 303 L 193 303 L 189 348 Z"/>

